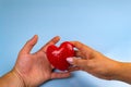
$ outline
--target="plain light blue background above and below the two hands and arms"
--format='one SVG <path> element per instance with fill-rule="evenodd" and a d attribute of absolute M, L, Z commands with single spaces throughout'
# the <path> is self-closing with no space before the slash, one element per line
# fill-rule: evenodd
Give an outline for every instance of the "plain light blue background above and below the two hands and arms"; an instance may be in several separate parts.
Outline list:
<path fill-rule="evenodd" d="M 33 35 L 38 50 L 56 35 L 80 40 L 118 61 L 131 61 L 131 0 L 0 0 L 0 76 L 9 72 Z M 59 44 L 60 44 L 59 42 Z M 41 87 L 130 87 L 85 72 Z"/>

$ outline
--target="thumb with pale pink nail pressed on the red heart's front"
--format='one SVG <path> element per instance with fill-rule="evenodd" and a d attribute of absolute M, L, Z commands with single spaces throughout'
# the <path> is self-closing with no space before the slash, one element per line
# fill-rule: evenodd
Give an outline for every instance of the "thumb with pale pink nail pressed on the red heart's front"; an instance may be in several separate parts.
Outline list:
<path fill-rule="evenodd" d="M 81 58 L 67 58 L 67 61 L 72 64 L 72 65 L 76 65 L 80 67 L 84 67 L 87 64 L 87 61 L 85 59 L 81 59 Z"/>

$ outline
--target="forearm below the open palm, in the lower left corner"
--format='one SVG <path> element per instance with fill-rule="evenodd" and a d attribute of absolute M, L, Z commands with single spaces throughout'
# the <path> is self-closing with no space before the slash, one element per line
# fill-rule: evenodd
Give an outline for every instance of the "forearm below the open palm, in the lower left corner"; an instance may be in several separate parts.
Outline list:
<path fill-rule="evenodd" d="M 0 77 L 0 87 L 24 87 L 24 84 L 14 72 L 9 72 L 4 76 Z"/>

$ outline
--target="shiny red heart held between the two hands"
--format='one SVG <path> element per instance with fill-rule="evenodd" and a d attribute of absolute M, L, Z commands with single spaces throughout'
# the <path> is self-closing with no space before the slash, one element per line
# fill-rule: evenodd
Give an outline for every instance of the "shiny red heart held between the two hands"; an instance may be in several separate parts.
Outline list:
<path fill-rule="evenodd" d="M 47 48 L 47 58 L 49 62 L 58 70 L 68 70 L 70 64 L 67 62 L 67 58 L 74 57 L 73 45 L 64 41 L 60 47 L 51 45 Z"/>

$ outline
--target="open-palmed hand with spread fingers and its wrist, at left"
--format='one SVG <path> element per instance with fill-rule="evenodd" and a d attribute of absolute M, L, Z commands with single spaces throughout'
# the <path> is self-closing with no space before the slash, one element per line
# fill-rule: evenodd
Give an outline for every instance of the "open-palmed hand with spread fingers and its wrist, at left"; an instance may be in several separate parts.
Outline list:
<path fill-rule="evenodd" d="M 31 50 L 36 45 L 38 36 L 29 39 L 20 51 L 13 70 L 0 77 L 0 87 L 37 87 L 49 79 L 69 77 L 69 72 L 52 72 L 53 67 L 46 57 L 47 47 L 57 44 L 59 39 L 58 36 L 52 38 L 35 53 L 31 53 Z"/>

